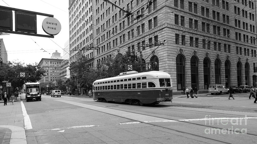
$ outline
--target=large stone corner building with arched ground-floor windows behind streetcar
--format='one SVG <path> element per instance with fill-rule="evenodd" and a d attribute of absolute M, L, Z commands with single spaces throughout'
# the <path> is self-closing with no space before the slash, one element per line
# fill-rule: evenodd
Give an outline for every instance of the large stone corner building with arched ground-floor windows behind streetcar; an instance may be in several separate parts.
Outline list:
<path fill-rule="evenodd" d="M 256 86 L 256 8 L 252 1 L 93 0 L 94 67 L 114 54 L 142 54 L 183 87 Z"/>

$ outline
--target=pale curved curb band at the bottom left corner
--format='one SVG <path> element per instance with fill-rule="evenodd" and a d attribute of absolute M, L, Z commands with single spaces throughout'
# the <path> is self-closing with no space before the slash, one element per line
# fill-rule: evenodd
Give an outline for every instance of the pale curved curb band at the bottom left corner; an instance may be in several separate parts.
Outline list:
<path fill-rule="evenodd" d="M 10 129 L 11 139 L 10 144 L 27 144 L 25 129 L 17 126 L 0 125 L 0 127 Z"/>

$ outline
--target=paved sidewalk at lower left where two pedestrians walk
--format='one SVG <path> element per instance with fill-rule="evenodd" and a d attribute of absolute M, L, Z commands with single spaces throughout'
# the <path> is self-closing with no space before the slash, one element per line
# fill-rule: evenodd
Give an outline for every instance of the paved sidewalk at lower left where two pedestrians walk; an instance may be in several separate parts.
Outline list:
<path fill-rule="evenodd" d="M 7 101 L 4 106 L 3 99 L 0 100 L 0 143 L 27 144 L 20 101 L 18 96 L 14 105 Z"/>

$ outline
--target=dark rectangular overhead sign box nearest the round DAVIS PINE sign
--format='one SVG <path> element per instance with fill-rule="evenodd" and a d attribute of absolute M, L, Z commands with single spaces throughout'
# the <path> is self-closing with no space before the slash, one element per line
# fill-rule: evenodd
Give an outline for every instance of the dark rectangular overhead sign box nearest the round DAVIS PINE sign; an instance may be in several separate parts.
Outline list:
<path fill-rule="evenodd" d="M 37 15 L 15 11 L 15 31 L 37 33 Z"/>

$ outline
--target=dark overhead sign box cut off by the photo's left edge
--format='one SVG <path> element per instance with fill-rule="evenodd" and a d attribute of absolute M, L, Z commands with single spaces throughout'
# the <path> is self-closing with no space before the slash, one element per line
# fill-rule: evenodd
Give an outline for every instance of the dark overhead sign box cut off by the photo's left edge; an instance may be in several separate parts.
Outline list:
<path fill-rule="evenodd" d="M 0 29 L 13 30 L 13 11 L 0 8 Z"/>

